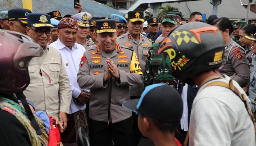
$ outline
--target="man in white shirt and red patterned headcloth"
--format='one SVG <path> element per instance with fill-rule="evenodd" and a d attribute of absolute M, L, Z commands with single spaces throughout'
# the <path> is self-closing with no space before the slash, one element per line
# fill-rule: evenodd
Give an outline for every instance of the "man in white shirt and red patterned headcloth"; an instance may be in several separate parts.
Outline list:
<path fill-rule="evenodd" d="M 50 46 L 56 48 L 61 53 L 72 90 L 67 129 L 61 134 L 61 141 L 64 144 L 76 142 L 76 133 L 79 127 L 85 128 L 88 133 L 85 108 L 89 102 L 89 92 L 83 92 L 83 89 L 80 89 L 77 83 L 80 60 L 86 50 L 82 45 L 75 43 L 77 32 L 78 23 L 76 20 L 73 18 L 63 18 L 60 20 L 57 29 L 59 39 L 50 44 Z"/>

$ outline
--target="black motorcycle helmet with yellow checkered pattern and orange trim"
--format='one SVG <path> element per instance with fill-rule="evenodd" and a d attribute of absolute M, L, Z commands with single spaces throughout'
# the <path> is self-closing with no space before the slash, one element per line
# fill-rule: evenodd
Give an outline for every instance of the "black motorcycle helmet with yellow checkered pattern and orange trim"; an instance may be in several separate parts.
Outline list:
<path fill-rule="evenodd" d="M 158 53 L 169 55 L 174 77 L 193 85 L 192 76 L 221 66 L 224 48 L 217 27 L 191 22 L 176 27 L 162 41 Z"/>

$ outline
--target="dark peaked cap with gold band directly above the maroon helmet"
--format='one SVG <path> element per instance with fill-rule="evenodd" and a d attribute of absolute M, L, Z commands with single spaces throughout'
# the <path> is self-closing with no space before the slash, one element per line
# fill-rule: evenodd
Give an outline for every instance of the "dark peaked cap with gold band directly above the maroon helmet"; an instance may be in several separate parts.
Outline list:
<path fill-rule="evenodd" d="M 18 21 L 27 24 L 27 15 L 30 14 L 29 9 L 15 8 L 8 11 L 9 21 Z"/>

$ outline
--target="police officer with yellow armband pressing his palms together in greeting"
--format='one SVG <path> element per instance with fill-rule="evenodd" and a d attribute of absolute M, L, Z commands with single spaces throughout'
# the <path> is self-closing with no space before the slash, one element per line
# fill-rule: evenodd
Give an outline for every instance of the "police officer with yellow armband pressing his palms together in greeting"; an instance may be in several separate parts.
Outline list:
<path fill-rule="evenodd" d="M 122 103 L 130 100 L 129 86 L 142 84 L 138 57 L 116 43 L 114 20 L 97 20 L 96 33 L 99 45 L 84 52 L 78 72 L 79 87 L 90 89 L 90 141 L 109 146 L 113 138 L 114 145 L 132 146 L 132 113 Z"/>

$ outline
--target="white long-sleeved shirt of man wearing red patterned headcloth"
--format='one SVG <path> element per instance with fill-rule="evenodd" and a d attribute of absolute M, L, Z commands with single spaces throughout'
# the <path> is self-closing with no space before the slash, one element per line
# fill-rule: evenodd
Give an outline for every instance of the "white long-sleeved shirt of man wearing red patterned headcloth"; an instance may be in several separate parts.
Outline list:
<path fill-rule="evenodd" d="M 81 58 L 83 56 L 84 51 L 86 50 L 82 45 L 79 45 L 78 43 L 75 43 L 72 46 L 72 49 L 70 50 L 60 41 L 60 38 L 57 39 L 56 42 L 51 43 L 50 46 L 60 51 L 62 62 L 65 66 L 65 69 L 69 77 L 70 87 L 72 90 L 72 97 L 77 98 L 82 91 L 82 89 L 79 88 L 79 85 L 77 83 L 77 73 Z M 84 110 L 85 108 L 86 105 L 76 104 L 74 98 L 72 98 L 69 108 L 69 114 L 72 114 L 79 110 Z"/>

